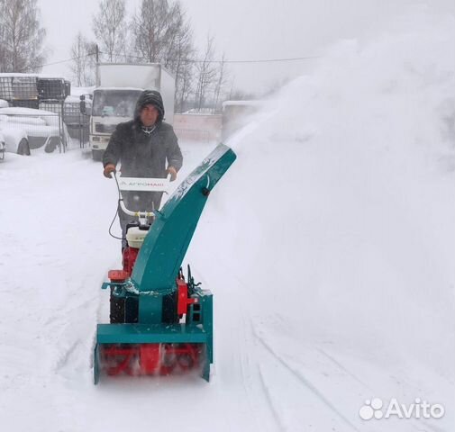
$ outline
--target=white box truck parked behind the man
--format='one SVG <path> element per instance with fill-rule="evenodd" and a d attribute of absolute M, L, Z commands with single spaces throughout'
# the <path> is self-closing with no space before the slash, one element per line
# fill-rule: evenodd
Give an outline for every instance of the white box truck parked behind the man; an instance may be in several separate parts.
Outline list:
<path fill-rule="evenodd" d="M 163 97 L 165 121 L 174 117 L 175 78 L 156 63 L 133 65 L 98 63 L 91 112 L 81 96 L 81 112 L 90 115 L 89 139 L 94 160 L 103 157 L 118 123 L 132 120 L 142 90 L 158 90 Z"/>

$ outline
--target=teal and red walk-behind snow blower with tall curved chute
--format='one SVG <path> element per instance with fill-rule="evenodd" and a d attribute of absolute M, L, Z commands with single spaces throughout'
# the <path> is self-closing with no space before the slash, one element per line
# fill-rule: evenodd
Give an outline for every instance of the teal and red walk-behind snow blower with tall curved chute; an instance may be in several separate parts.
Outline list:
<path fill-rule="evenodd" d="M 182 262 L 205 202 L 235 160 L 220 144 L 177 186 L 159 211 L 130 211 L 122 190 L 157 191 L 167 179 L 115 175 L 119 205 L 135 216 L 127 226 L 123 269 L 111 270 L 110 323 L 98 324 L 94 382 L 110 375 L 169 375 L 196 371 L 206 381 L 214 361 L 213 295 Z"/>

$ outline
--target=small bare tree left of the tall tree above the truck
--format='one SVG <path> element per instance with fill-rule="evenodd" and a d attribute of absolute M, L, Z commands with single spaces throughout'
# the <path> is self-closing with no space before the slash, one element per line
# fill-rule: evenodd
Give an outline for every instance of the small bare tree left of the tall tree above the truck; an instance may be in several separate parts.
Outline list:
<path fill-rule="evenodd" d="M 70 49 L 69 68 L 77 86 L 95 85 L 96 44 L 86 40 L 79 31 Z"/>

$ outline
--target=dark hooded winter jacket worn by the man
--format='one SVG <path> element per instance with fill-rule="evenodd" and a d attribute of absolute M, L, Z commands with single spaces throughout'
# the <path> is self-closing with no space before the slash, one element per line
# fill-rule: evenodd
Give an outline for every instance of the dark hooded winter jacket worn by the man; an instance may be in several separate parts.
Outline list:
<path fill-rule="evenodd" d="M 141 129 L 141 108 L 151 103 L 157 106 L 159 120 L 150 135 Z M 145 90 L 136 104 L 134 120 L 120 123 L 109 140 L 103 157 L 103 165 L 121 162 L 123 176 L 166 177 L 167 166 L 177 171 L 182 166 L 182 152 L 172 126 L 164 121 L 164 107 L 158 92 Z M 167 163 L 166 163 L 167 162 Z"/>

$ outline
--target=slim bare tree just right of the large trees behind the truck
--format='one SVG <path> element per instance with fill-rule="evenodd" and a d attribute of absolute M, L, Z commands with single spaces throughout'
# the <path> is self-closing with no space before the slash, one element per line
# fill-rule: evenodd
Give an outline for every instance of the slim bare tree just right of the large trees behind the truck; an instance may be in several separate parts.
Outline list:
<path fill-rule="evenodd" d="M 196 94 L 195 108 L 201 110 L 206 102 L 207 95 L 214 90 L 217 70 L 214 66 L 214 38 L 207 36 L 204 56 L 196 63 Z"/>

